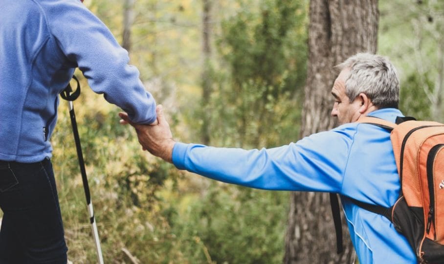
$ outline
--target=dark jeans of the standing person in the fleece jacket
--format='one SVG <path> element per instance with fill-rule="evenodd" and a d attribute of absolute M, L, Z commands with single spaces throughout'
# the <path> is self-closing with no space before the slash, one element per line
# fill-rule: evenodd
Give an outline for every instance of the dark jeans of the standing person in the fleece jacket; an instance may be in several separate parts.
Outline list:
<path fill-rule="evenodd" d="M 66 264 L 59 199 L 49 158 L 0 161 L 0 264 Z"/>

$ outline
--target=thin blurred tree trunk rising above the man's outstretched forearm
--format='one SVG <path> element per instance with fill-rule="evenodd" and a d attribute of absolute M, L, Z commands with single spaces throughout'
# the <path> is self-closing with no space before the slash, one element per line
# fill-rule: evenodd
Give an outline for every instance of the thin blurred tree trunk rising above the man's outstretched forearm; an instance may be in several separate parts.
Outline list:
<path fill-rule="evenodd" d="M 211 8 L 213 0 L 202 0 L 202 127 L 201 137 L 204 145 L 210 143 L 210 113 L 211 96 Z"/>

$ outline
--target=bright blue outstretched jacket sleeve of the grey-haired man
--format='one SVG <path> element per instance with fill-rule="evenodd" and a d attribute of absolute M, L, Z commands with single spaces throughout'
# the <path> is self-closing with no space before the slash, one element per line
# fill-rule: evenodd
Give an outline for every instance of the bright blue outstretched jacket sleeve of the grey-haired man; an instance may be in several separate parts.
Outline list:
<path fill-rule="evenodd" d="M 353 136 L 321 132 L 286 146 L 248 151 L 176 143 L 173 163 L 178 169 L 251 188 L 341 193 Z"/>

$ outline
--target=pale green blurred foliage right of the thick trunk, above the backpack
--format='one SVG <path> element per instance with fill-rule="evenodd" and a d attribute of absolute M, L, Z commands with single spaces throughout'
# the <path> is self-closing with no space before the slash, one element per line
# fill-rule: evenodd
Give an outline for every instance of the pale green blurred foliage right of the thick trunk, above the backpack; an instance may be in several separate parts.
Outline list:
<path fill-rule="evenodd" d="M 378 53 L 399 69 L 404 114 L 444 122 L 444 5 L 441 0 L 380 1 Z"/>

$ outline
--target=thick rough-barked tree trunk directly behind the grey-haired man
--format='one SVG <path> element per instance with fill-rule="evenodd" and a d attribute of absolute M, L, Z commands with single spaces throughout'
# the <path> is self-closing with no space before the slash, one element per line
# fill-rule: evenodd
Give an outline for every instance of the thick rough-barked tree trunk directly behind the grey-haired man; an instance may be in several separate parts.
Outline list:
<path fill-rule="evenodd" d="M 357 52 L 377 49 L 377 0 L 311 0 L 309 63 L 301 137 L 332 129 L 333 70 Z M 343 220 L 343 230 L 347 225 Z M 284 263 L 352 263 L 354 249 L 344 233 L 344 252 L 336 240 L 327 193 L 295 192 L 290 196 Z"/>

